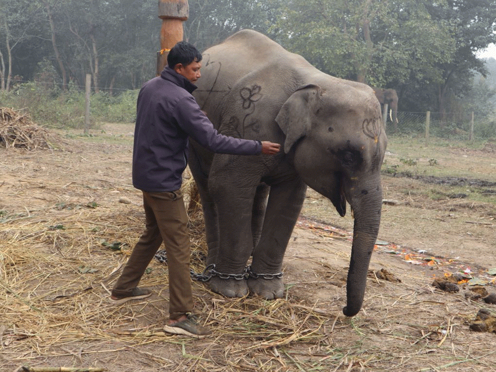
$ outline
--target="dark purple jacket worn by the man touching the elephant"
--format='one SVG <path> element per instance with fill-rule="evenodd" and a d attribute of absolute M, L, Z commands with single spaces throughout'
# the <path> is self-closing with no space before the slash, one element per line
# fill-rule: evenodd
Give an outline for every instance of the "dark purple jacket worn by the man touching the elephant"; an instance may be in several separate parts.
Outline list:
<path fill-rule="evenodd" d="M 188 136 L 213 152 L 260 154 L 260 141 L 218 133 L 191 95 L 195 89 L 194 84 L 169 67 L 143 84 L 138 95 L 134 129 L 134 187 L 149 192 L 181 188 L 187 164 Z"/>

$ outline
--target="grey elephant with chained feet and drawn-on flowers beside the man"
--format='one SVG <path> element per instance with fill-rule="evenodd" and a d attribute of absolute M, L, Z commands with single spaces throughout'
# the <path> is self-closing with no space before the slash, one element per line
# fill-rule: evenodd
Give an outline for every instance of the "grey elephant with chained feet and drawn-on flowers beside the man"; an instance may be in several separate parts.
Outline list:
<path fill-rule="evenodd" d="M 192 141 L 207 265 L 215 265 L 210 288 L 226 297 L 283 296 L 283 257 L 308 185 L 341 216 L 346 201 L 353 209 L 343 312 L 357 314 L 379 230 L 387 142 L 372 89 L 329 76 L 252 30 L 207 49 L 202 63 L 194 95 L 219 132 L 282 144 L 274 156 L 237 156 Z"/>

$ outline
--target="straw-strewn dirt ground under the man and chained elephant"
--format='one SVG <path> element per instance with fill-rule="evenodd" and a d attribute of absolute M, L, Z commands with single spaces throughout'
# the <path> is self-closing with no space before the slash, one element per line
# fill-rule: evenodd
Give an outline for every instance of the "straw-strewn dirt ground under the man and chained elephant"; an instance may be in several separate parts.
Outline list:
<path fill-rule="evenodd" d="M 132 129 L 73 132 L 65 151 L 0 150 L 1 371 L 496 371 L 496 305 L 483 300 L 496 293 L 492 148 L 417 152 L 390 141 L 383 169 L 394 172 L 383 176 L 357 316 L 341 311 L 351 213 L 339 217 L 309 190 L 285 257 L 286 297 L 229 300 L 194 282 L 196 310 L 214 330 L 195 340 L 161 332 L 166 264 L 153 261 L 142 280 L 149 301 L 105 301 L 142 229 Z M 442 284 L 453 277 L 458 291 Z M 480 310 L 489 310 L 483 329 Z"/>

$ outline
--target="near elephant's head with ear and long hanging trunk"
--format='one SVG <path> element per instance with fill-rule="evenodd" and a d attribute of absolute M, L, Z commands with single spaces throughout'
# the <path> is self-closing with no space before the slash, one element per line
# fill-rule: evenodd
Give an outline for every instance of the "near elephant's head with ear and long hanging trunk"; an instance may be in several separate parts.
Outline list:
<path fill-rule="evenodd" d="M 323 84 L 322 84 L 323 85 Z M 325 89 L 309 84 L 284 103 L 276 122 L 286 135 L 284 151 L 305 183 L 331 200 L 344 216 L 354 216 L 347 281 L 347 305 L 353 316 L 362 307 L 382 206 L 380 166 L 387 138 L 380 105 L 372 89 L 348 82 Z"/>

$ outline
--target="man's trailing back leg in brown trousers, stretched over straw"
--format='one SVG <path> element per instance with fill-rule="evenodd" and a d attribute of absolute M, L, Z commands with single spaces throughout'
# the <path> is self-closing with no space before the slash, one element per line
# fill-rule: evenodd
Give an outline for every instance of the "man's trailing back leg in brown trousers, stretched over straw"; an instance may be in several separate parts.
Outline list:
<path fill-rule="evenodd" d="M 134 246 L 131 256 L 124 266 L 123 273 L 117 280 L 112 290 L 113 300 L 131 297 L 133 291 L 143 276 L 148 264 L 153 259 L 158 248 L 162 244 L 160 229 L 153 212 L 153 208 L 148 204 L 147 193 L 143 192 L 143 207 L 145 209 L 145 230 L 138 243 Z M 142 297 L 143 298 L 143 297 Z"/>

